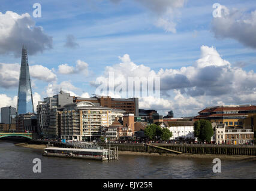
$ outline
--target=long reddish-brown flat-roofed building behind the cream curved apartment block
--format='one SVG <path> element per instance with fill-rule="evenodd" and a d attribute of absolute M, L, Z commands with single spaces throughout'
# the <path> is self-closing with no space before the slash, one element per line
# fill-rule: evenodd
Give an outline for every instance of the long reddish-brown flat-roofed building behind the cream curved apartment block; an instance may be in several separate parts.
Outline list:
<path fill-rule="evenodd" d="M 94 96 L 91 98 L 75 97 L 74 102 L 90 101 L 98 103 L 100 106 L 112 109 L 122 109 L 127 113 L 133 113 L 138 116 L 138 98 L 112 98 L 110 96 Z"/>

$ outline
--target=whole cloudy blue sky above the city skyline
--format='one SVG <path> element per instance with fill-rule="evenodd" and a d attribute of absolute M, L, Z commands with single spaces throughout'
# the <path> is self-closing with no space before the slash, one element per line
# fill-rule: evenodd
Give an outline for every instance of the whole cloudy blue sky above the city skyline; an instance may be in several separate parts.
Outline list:
<path fill-rule="evenodd" d="M 22 44 L 34 107 L 60 90 L 174 117 L 256 104 L 255 32 L 255 0 L 1 0 L 0 107 L 17 106 Z"/>

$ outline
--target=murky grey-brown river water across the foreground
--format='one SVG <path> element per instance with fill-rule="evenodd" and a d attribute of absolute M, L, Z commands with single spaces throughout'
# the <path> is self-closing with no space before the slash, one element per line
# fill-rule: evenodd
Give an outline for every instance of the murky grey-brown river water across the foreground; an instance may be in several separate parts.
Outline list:
<path fill-rule="evenodd" d="M 256 160 L 221 160 L 221 173 L 213 173 L 212 159 L 168 156 L 119 155 L 119 161 L 42 156 L 42 150 L 0 141 L 0 178 L 256 178 Z M 34 158 L 41 159 L 41 173 L 34 173 Z"/>

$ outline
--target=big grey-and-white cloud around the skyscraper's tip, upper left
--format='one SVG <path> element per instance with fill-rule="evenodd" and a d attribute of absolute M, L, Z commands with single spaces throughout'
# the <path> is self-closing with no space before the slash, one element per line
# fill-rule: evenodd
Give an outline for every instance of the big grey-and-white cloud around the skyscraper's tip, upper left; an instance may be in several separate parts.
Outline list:
<path fill-rule="evenodd" d="M 18 57 L 22 44 L 32 55 L 52 48 L 52 37 L 44 33 L 42 27 L 35 26 L 28 13 L 0 12 L 0 54 L 14 53 Z"/>

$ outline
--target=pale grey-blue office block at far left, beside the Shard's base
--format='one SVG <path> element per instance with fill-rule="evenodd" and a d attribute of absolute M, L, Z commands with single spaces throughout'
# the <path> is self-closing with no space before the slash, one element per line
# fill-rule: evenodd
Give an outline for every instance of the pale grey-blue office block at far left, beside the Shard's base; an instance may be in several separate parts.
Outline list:
<path fill-rule="evenodd" d="M 1 122 L 4 124 L 15 124 L 16 108 L 2 107 L 1 108 Z"/>

